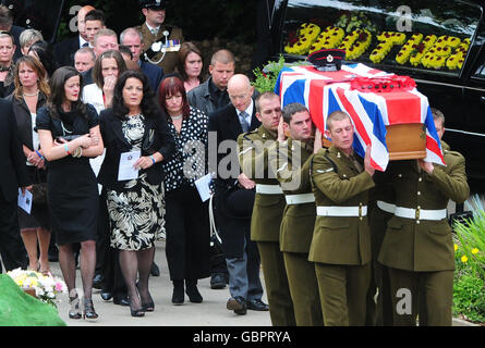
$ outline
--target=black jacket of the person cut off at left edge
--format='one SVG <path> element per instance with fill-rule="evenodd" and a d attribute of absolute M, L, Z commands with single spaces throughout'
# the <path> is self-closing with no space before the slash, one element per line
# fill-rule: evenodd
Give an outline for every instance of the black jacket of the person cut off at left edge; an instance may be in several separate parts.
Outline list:
<path fill-rule="evenodd" d="M 31 185 L 12 103 L 0 99 L 0 199 L 15 200 L 19 187 Z"/>

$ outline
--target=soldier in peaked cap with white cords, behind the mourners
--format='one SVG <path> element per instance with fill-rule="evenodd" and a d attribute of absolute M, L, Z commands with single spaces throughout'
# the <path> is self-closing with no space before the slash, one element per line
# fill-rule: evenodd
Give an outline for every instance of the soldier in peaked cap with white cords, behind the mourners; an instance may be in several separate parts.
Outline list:
<path fill-rule="evenodd" d="M 150 63 L 163 69 L 165 74 L 173 73 L 180 45 L 184 41 L 182 29 L 165 24 L 166 0 L 140 0 L 140 5 L 145 16 L 145 23 L 136 28 L 143 35 L 144 50 L 150 52 L 154 42 L 165 46 L 167 51 L 165 57 L 163 52 L 158 52 L 150 58 Z M 161 59 L 162 57 L 163 59 Z M 143 59 L 144 54 L 141 54 L 141 58 Z"/>

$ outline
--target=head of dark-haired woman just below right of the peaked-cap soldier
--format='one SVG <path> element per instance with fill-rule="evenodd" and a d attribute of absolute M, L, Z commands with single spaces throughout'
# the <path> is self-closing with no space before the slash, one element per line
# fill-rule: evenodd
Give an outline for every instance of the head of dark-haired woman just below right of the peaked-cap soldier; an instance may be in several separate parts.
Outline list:
<path fill-rule="evenodd" d="M 192 42 L 183 42 L 177 60 L 177 71 L 181 74 L 185 91 L 202 84 L 204 58 L 201 50 Z"/>

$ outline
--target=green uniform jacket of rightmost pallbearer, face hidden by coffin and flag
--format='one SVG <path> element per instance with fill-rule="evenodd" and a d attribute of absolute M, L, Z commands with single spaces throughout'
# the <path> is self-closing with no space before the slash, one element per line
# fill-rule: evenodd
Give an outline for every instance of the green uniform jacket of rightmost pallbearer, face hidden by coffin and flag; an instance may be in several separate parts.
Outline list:
<path fill-rule="evenodd" d="M 442 142 L 444 144 L 444 142 Z M 446 144 L 444 149 L 449 148 Z M 446 166 L 434 164 L 432 174 L 420 171 L 416 161 L 391 162 L 389 179 L 396 206 L 416 210 L 447 209 L 448 200 L 466 200 L 464 158 L 444 150 Z M 389 220 L 378 258 L 379 262 L 407 271 L 454 270 L 454 249 L 447 219 L 439 221 L 393 216 Z"/>

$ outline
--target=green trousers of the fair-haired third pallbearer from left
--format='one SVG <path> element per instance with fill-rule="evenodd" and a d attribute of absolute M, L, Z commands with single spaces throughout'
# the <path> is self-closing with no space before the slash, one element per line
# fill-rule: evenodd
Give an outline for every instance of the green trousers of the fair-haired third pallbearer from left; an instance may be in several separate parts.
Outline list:
<path fill-rule="evenodd" d="M 371 262 L 364 265 L 315 263 L 325 326 L 364 326 Z"/>

